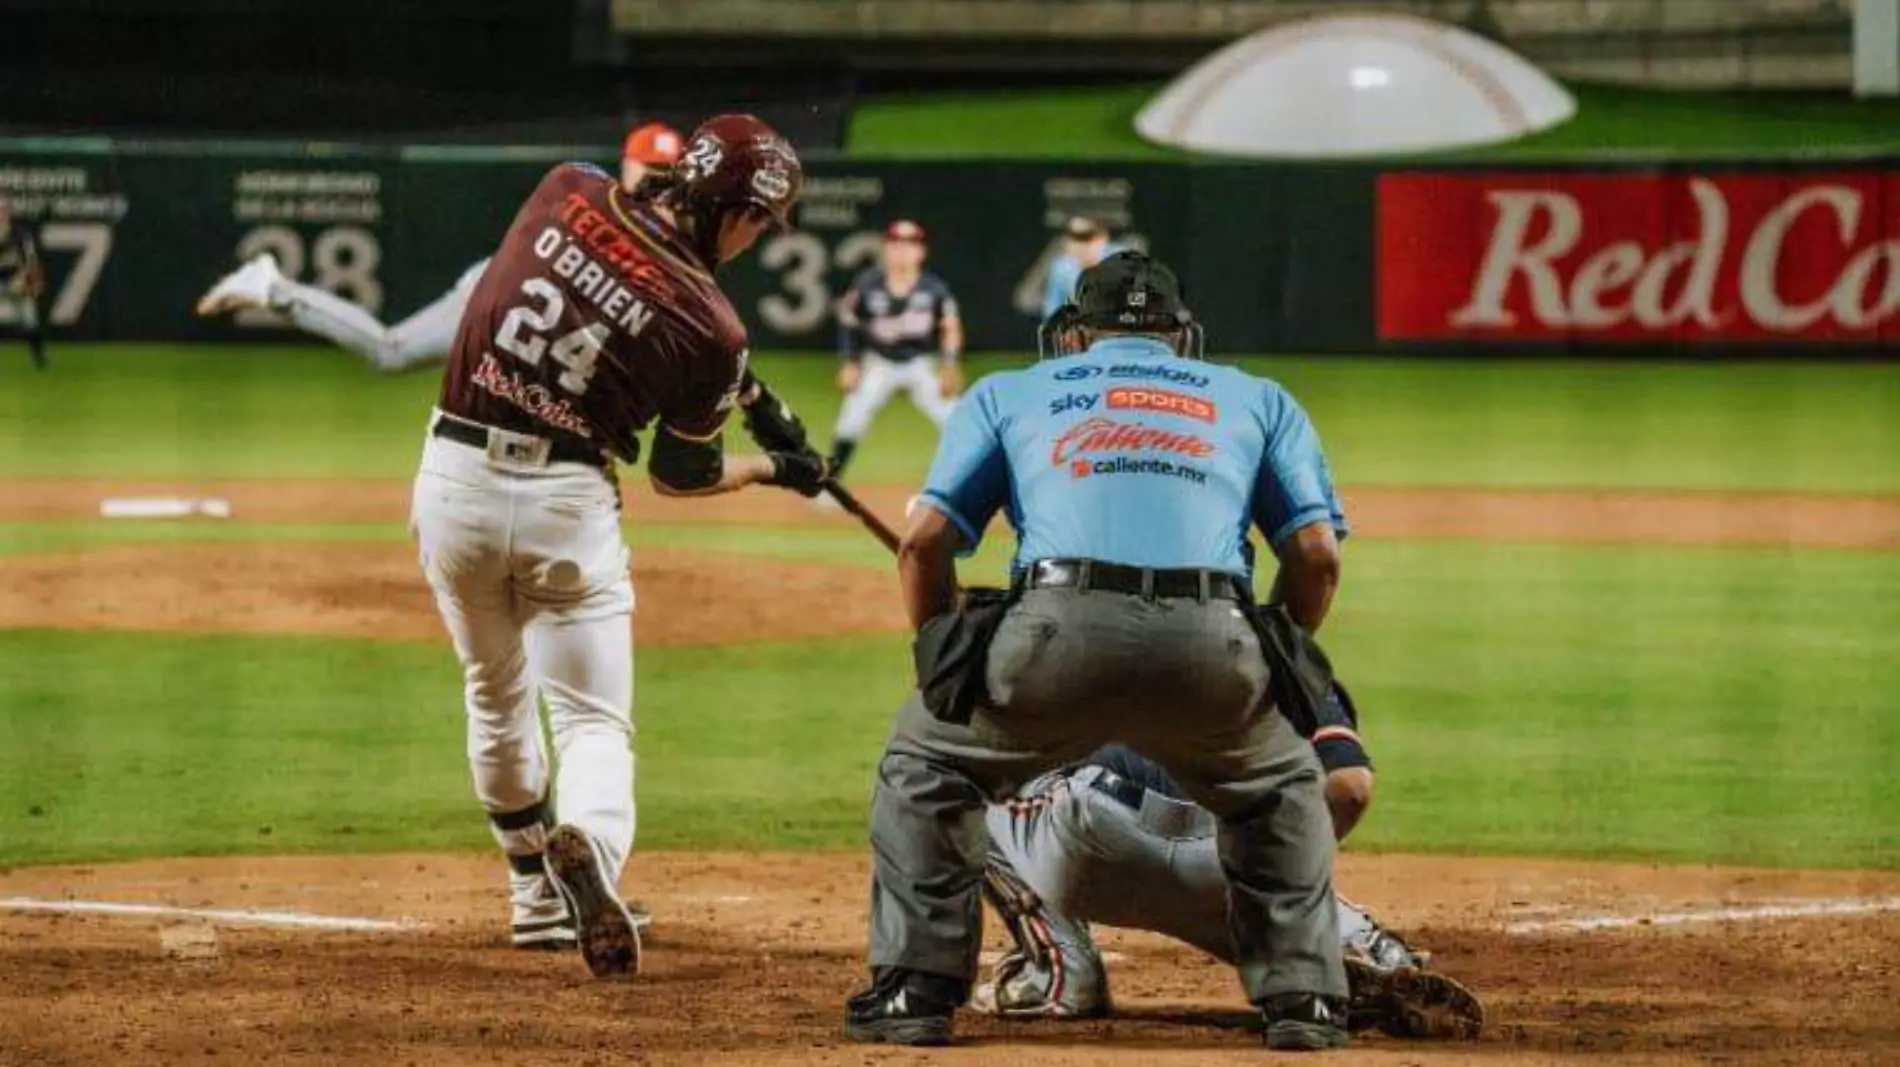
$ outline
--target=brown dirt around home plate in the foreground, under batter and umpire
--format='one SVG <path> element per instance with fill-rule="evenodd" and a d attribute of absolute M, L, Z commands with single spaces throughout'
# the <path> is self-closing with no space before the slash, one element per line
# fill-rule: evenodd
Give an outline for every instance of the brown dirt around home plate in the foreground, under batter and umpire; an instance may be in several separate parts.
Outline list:
<path fill-rule="evenodd" d="M 504 947 L 486 856 L 167 860 L 0 873 L 0 898 L 410 919 L 390 934 L 218 928 L 167 959 L 179 919 L 0 909 L 0 1063 L 1260 1063 L 1226 968 L 1104 936 L 1119 1016 L 973 1016 L 969 1048 L 868 1050 L 838 1033 L 863 966 L 864 860 L 644 854 L 646 974 Z M 1892 898 L 1900 875 L 1345 856 L 1341 885 L 1434 949 L 1492 1014 L 1476 1044 L 1366 1039 L 1332 1063 L 1894 1063 L 1900 911 L 1512 934 L 1510 923 L 1761 902 Z M 203 940 L 201 936 L 198 938 Z M 1273 1061 L 1271 1058 L 1267 1061 Z"/>

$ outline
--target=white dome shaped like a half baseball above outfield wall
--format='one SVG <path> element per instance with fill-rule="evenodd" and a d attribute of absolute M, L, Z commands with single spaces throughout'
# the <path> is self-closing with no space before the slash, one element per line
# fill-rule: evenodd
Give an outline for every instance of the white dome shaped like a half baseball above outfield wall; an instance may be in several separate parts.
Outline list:
<path fill-rule="evenodd" d="M 1148 140 L 1227 156 L 1372 156 L 1512 140 L 1577 103 L 1518 53 L 1412 15 L 1334 15 L 1241 38 L 1134 118 Z"/>

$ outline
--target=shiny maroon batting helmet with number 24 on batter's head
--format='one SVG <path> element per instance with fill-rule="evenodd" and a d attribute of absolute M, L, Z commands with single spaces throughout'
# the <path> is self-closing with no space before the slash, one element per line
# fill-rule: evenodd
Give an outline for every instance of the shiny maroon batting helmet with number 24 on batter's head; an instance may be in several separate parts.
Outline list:
<path fill-rule="evenodd" d="M 804 186 L 798 154 L 779 131 L 756 116 L 722 114 L 686 139 L 673 199 L 714 230 L 718 216 L 739 205 L 758 207 L 779 226 L 790 226 Z"/>

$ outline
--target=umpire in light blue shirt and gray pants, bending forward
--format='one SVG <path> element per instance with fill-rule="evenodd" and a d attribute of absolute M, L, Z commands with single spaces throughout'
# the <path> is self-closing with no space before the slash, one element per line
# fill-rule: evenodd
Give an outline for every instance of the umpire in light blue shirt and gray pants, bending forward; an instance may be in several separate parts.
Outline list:
<path fill-rule="evenodd" d="M 1341 1046 L 1320 769 L 1267 697 L 1248 617 L 1248 526 L 1279 554 L 1294 619 L 1317 628 L 1332 602 L 1345 520 L 1319 437 L 1273 382 L 1180 359 L 1199 327 L 1174 273 L 1138 253 L 1085 271 L 1045 336 L 1060 359 L 992 374 L 958 406 L 899 554 L 920 691 L 878 767 L 872 987 L 846 1035 L 950 1039 L 977 972 L 984 801 L 1127 742 L 1220 818 L 1267 1046 Z M 960 602 L 956 577 L 998 511 L 1018 537 L 1007 609 Z M 984 653 L 971 632 L 990 611 Z M 978 697 L 944 697 L 946 657 L 975 665 Z"/>

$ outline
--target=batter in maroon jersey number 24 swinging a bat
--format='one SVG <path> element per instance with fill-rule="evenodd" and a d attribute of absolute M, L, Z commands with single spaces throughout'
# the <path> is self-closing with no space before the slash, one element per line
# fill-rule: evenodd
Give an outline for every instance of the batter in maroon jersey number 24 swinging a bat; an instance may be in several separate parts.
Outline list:
<path fill-rule="evenodd" d="M 466 674 L 475 796 L 511 866 L 517 945 L 574 944 L 597 976 L 638 968 L 619 896 L 633 851 L 633 583 L 612 461 L 657 423 L 654 488 L 815 496 L 815 452 L 735 458 L 720 429 L 804 437 L 747 372 L 712 270 L 788 220 L 798 156 L 752 116 L 701 125 L 629 194 L 555 167 L 469 298 L 416 475 L 422 570 Z M 796 435 L 790 433 L 796 429 Z M 553 765 L 542 750 L 547 702 Z M 553 777 L 553 792 L 549 778 Z"/>

